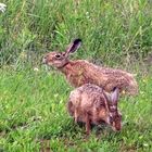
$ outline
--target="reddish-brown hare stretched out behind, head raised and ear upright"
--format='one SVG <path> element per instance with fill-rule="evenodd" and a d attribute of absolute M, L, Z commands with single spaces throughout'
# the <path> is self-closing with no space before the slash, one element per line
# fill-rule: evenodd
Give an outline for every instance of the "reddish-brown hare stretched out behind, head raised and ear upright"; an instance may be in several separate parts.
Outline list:
<path fill-rule="evenodd" d="M 117 87 L 121 92 L 135 96 L 138 93 L 138 85 L 130 73 L 122 69 L 100 67 L 86 60 L 71 61 L 69 54 L 81 45 L 80 39 L 75 39 L 65 52 L 50 52 L 43 56 L 43 63 L 56 67 L 65 76 L 73 87 L 84 84 L 94 84 L 111 92 Z"/>

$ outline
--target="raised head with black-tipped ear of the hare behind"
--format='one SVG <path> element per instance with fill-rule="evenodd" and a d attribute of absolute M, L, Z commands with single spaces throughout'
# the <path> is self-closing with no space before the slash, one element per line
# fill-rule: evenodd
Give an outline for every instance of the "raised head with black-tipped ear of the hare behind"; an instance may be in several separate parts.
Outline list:
<path fill-rule="evenodd" d="M 42 62 L 47 65 L 55 66 L 58 68 L 63 67 L 68 63 L 69 53 L 75 52 L 81 45 L 80 39 L 75 39 L 72 43 L 69 43 L 68 48 L 65 52 L 50 52 L 47 53 Z"/>

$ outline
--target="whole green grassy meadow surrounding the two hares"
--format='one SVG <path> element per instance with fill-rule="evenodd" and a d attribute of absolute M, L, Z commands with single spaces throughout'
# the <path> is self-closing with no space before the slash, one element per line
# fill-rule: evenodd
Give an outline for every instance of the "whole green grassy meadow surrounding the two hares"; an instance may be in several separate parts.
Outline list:
<path fill-rule="evenodd" d="M 151 152 L 152 2 L 147 0 L 2 0 L 0 12 L 0 151 Z M 72 88 L 42 55 L 83 39 L 72 59 L 134 73 L 137 97 L 123 97 L 123 129 L 90 137 L 66 111 Z"/>

